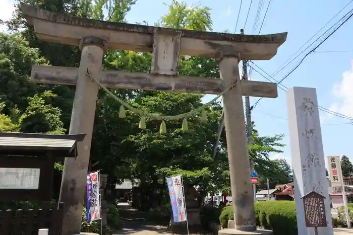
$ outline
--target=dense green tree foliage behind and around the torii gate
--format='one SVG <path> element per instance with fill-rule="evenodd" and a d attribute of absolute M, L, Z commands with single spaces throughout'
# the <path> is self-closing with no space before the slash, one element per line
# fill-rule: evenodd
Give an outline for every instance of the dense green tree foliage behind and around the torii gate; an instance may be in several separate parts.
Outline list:
<path fill-rule="evenodd" d="M 125 16 L 136 4 L 133 0 L 24 2 L 49 11 L 114 22 L 125 22 Z M 67 133 L 74 87 L 34 84 L 30 82 L 29 75 L 31 66 L 35 64 L 77 67 L 80 50 L 74 46 L 38 40 L 18 7 L 7 25 L 13 34 L 0 34 L 0 130 Z M 188 8 L 186 3 L 173 0 L 169 11 L 156 25 L 210 31 L 210 9 L 200 5 Z M 150 66 L 150 53 L 108 51 L 103 59 L 104 69 L 149 72 Z M 179 74 L 217 78 L 219 69 L 214 59 L 182 56 Z M 203 103 L 203 95 L 200 94 L 110 90 L 136 108 L 163 115 L 186 113 Z M 189 118 L 189 131 L 182 131 L 180 121 L 168 121 L 167 133 L 163 135 L 158 133 L 159 122 L 147 120 L 146 129 L 140 130 L 138 115 L 128 111 L 127 118 L 119 118 L 119 107 L 119 103 L 99 90 L 91 147 L 91 165 L 94 167 L 90 170 L 101 169 L 108 174 L 110 187 L 123 179 L 138 179 L 146 200 L 150 201 L 156 189 L 166 190 L 165 177 L 182 174 L 186 183 L 198 186 L 201 192 L 229 192 L 224 130 L 216 157 L 212 158 L 222 112 L 219 102 L 207 109 L 208 122 L 202 123 L 197 117 Z M 249 146 L 260 183 L 266 178 L 275 184 L 290 182 L 291 169 L 285 160 L 269 159 L 271 152 L 281 152 L 283 135 L 271 137 L 260 136 L 260 133 L 254 130 L 254 143 Z M 152 206 L 152 203 L 146 205 Z"/>

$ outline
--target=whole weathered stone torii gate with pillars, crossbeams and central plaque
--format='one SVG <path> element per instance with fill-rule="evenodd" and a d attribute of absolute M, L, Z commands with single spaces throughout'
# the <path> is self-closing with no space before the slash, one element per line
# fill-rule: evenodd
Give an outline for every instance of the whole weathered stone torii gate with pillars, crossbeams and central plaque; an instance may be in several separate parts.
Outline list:
<path fill-rule="evenodd" d="M 236 83 L 223 96 L 235 228 L 256 231 L 242 96 L 276 98 L 277 87 L 241 81 L 238 63 L 241 59 L 272 58 L 287 33 L 240 35 L 113 23 L 57 14 L 23 3 L 21 10 L 39 39 L 80 46 L 82 51 L 79 68 L 33 66 L 31 74 L 36 83 L 76 85 L 69 133 L 87 133 L 78 145 L 78 158 L 65 160 L 60 195 L 65 203 L 64 235 L 80 232 L 98 91 L 88 79 L 88 69 L 102 85 L 111 88 L 220 94 Z M 152 52 L 151 73 L 100 71 L 107 49 Z M 179 76 L 181 54 L 216 58 L 220 79 Z"/>

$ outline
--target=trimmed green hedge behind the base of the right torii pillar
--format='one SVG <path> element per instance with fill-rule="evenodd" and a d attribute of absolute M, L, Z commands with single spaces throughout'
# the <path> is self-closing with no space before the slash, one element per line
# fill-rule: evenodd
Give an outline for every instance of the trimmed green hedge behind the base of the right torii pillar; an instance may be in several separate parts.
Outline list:
<path fill-rule="evenodd" d="M 297 235 L 297 211 L 293 201 L 262 201 L 255 203 L 256 225 L 270 229 L 274 235 Z M 224 207 L 219 222 L 227 227 L 228 219 L 233 219 L 232 206 Z"/>

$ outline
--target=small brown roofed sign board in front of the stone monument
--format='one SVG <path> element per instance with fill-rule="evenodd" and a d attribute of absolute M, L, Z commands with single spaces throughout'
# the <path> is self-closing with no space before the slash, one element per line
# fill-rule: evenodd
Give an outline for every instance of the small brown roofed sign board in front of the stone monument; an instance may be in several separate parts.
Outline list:
<path fill-rule="evenodd" d="M 304 203 L 305 224 L 307 227 L 326 227 L 325 197 L 317 192 L 310 192 L 302 197 Z"/>

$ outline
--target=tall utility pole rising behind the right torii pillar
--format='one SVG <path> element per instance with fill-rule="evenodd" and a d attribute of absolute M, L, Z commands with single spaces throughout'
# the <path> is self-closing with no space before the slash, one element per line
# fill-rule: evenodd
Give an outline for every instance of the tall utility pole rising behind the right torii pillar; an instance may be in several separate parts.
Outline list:
<path fill-rule="evenodd" d="M 240 34 L 244 34 L 244 29 L 240 30 Z M 248 60 L 243 59 L 243 74 L 242 80 L 248 80 Z M 248 146 L 253 143 L 253 124 L 251 122 L 251 107 L 250 107 L 250 97 L 245 97 L 245 116 L 247 119 L 247 137 L 248 137 Z M 250 160 L 250 171 L 251 173 L 255 172 L 255 166 L 253 161 Z M 256 184 L 253 184 L 254 190 L 254 201 L 256 202 Z"/>

